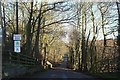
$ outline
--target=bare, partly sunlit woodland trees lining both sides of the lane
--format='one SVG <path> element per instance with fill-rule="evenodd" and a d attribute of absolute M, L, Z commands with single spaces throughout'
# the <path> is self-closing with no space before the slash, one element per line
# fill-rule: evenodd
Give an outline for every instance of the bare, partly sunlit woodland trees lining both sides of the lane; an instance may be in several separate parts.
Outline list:
<path fill-rule="evenodd" d="M 119 2 L 0 2 L 3 64 L 13 51 L 13 34 L 21 34 L 21 52 L 46 66 L 62 63 L 92 73 L 120 70 Z M 18 56 L 19 57 L 19 56 Z"/>

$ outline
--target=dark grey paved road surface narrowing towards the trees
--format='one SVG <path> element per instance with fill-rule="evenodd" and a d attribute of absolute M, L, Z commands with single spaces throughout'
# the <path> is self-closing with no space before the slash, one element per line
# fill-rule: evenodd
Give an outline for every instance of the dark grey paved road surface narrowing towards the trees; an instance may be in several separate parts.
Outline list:
<path fill-rule="evenodd" d="M 31 77 L 27 78 L 61 78 L 63 80 L 67 80 L 68 78 L 75 78 L 75 79 L 90 79 L 90 80 L 101 80 L 101 79 L 95 79 L 94 77 L 85 75 L 83 73 L 74 72 L 70 69 L 56 67 L 51 70 L 42 72 L 42 73 L 36 73 Z"/>

